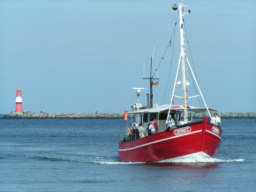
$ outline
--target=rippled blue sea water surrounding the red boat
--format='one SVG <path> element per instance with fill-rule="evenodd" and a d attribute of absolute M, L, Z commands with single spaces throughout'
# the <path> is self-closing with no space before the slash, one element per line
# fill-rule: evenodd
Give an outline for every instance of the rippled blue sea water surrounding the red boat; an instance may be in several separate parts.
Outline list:
<path fill-rule="evenodd" d="M 0 191 L 256 191 L 256 119 L 222 119 L 214 159 L 124 163 L 123 119 L 0 119 Z"/>

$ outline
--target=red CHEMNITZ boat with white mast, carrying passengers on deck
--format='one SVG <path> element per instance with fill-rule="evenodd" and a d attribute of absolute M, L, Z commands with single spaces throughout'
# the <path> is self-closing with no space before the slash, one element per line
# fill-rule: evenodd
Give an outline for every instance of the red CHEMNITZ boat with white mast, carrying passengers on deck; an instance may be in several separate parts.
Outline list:
<path fill-rule="evenodd" d="M 121 161 L 168 162 L 184 158 L 214 158 L 218 153 L 222 136 L 221 123 L 220 118 L 216 116 L 212 117 L 212 114 L 216 114 L 219 110 L 207 107 L 203 94 L 198 86 L 197 79 L 194 76 L 193 70 L 187 59 L 184 48 L 183 16 L 186 13 L 190 13 L 190 10 L 184 12 L 184 7 L 187 6 L 183 3 L 172 5 L 173 10 L 179 10 L 181 52 L 172 91 L 171 103 L 170 105 L 158 106 L 155 104 L 154 107 L 152 106 L 152 79 L 154 78 L 151 74 L 150 78 L 148 78 L 150 80 L 150 106 L 142 107 L 139 103 L 140 92 L 144 88 L 132 88 L 137 90 L 137 103 L 131 106 L 133 111 L 130 113 L 130 116 L 132 117 L 132 125 L 140 130 L 140 136 L 143 135 L 143 137 L 138 138 L 135 135 L 128 133 L 120 136 L 118 155 Z M 177 82 L 180 63 L 182 67 L 182 81 Z M 194 78 L 193 82 L 195 82 L 196 87 L 200 92 L 199 95 L 188 97 L 189 83 L 187 80 L 187 65 Z M 182 84 L 183 97 L 174 94 L 176 84 Z M 182 98 L 183 105 L 175 105 L 175 97 Z M 204 107 L 189 106 L 188 99 L 193 97 L 200 97 Z M 199 115 L 201 120 L 196 118 L 198 113 L 203 113 L 203 117 Z M 168 129 L 168 121 L 171 120 L 169 119 L 170 115 L 173 121 L 171 130 Z M 158 131 L 156 132 L 155 127 L 154 131 L 151 129 L 155 134 L 150 135 L 148 130 L 141 127 L 142 124 L 148 125 L 154 119 L 156 119 Z"/>

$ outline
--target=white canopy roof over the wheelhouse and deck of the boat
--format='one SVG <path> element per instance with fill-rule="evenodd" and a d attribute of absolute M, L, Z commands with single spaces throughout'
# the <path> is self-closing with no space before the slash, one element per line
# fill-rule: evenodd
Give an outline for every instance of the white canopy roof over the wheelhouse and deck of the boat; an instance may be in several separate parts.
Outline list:
<path fill-rule="evenodd" d="M 129 112 L 129 113 L 159 113 L 161 111 L 169 110 L 169 107 L 170 107 L 170 105 L 160 105 L 158 107 L 149 108 L 149 109 L 141 109 L 139 111 Z M 184 108 L 182 105 L 172 105 L 172 107 L 171 107 L 171 111 L 184 110 L 184 109 L 186 109 L 186 108 Z M 208 110 L 209 111 L 219 111 L 218 109 L 213 109 L 213 108 L 208 108 Z M 188 106 L 187 111 L 193 112 L 193 113 L 202 113 L 202 112 L 207 111 L 207 109 Z"/>

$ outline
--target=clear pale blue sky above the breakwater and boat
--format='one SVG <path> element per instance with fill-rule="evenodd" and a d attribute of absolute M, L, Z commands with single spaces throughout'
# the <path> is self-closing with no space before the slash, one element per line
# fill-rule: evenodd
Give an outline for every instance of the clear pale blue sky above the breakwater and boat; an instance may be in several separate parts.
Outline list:
<path fill-rule="evenodd" d="M 15 110 L 17 88 L 23 110 L 35 113 L 131 111 L 137 102 L 132 87 L 145 88 L 140 103 L 146 106 L 149 80 L 143 80 L 143 65 L 149 77 L 154 46 L 153 70 L 164 55 L 178 14 L 171 8 L 174 3 L 180 2 L 0 1 L 0 113 Z M 184 4 L 191 10 L 184 17 L 186 35 L 208 107 L 255 112 L 256 2 Z M 178 28 L 175 36 L 179 40 Z M 179 52 L 178 41 L 168 47 L 153 104 L 170 103 Z M 193 100 L 189 104 L 197 106 Z"/>

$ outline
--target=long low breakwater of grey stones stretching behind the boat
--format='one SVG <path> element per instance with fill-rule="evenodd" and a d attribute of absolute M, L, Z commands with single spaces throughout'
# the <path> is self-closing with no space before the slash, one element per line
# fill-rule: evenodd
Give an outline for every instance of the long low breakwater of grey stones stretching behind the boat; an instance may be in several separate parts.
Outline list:
<path fill-rule="evenodd" d="M 254 113 L 220 113 L 221 119 L 256 119 Z M 2 119 L 123 119 L 124 113 L 49 113 L 49 114 L 22 114 L 15 113 L 2 117 Z M 128 118 L 131 118 L 130 114 Z M 193 117 L 195 118 L 195 116 Z M 197 114 L 196 118 L 203 118 L 203 115 Z"/>

